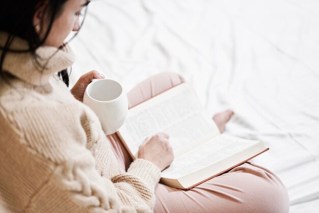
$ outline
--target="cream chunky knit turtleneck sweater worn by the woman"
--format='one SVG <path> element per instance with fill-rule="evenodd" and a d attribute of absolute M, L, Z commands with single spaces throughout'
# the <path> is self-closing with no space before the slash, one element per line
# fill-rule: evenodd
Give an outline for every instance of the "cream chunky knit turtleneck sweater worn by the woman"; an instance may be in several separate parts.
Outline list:
<path fill-rule="evenodd" d="M 3 46 L 7 34 L 0 34 Z M 26 49 L 15 38 L 12 49 Z M 120 173 L 96 115 L 58 71 L 66 47 L 9 53 L 0 79 L 0 197 L 17 212 L 151 212 L 161 171 L 144 159 Z M 41 68 L 45 65 L 45 69 Z"/>

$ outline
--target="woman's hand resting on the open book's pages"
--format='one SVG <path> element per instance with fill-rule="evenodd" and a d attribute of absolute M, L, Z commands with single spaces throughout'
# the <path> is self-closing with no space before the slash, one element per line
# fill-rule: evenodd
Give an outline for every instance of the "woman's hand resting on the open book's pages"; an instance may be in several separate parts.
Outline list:
<path fill-rule="evenodd" d="M 147 138 L 139 148 L 138 158 L 146 159 L 163 171 L 174 159 L 173 149 L 168 141 L 169 135 L 161 132 Z"/>

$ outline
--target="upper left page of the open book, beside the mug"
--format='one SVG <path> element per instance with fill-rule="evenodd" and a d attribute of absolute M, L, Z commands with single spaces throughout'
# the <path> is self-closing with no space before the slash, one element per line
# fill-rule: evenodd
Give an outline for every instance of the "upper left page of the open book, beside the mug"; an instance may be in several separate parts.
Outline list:
<path fill-rule="evenodd" d="M 214 121 L 187 84 L 178 85 L 129 110 L 119 133 L 133 155 L 147 137 L 170 136 L 175 156 L 219 135 Z"/>

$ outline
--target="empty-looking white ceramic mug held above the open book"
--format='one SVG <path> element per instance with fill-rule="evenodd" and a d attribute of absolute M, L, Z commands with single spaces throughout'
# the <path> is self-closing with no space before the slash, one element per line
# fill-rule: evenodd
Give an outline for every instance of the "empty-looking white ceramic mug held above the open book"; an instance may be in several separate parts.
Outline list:
<path fill-rule="evenodd" d="M 111 79 L 94 79 L 84 93 L 83 102 L 99 118 L 106 135 L 116 132 L 128 111 L 127 96 L 122 86 Z"/>

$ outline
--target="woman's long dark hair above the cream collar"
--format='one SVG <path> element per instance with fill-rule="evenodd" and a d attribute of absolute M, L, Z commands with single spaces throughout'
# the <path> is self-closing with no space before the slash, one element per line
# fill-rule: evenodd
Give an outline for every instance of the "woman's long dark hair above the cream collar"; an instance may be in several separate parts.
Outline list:
<path fill-rule="evenodd" d="M 9 34 L 2 50 L 0 58 L 0 76 L 3 76 L 3 63 L 7 52 L 31 52 L 36 57 L 35 50 L 46 40 L 54 20 L 60 15 L 64 4 L 68 0 L 10 0 L 5 1 L 0 7 L 0 31 Z M 45 12 L 49 14 L 49 26 L 43 39 L 37 34 L 33 25 L 33 17 L 39 7 L 45 6 Z M 40 24 L 43 24 L 41 20 Z M 80 26 L 81 27 L 81 26 Z M 41 29 L 43 29 L 41 27 Z M 76 35 L 76 34 L 75 34 Z M 74 35 L 74 36 L 75 36 Z M 29 43 L 29 49 L 14 50 L 10 45 L 15 37 L 20 37 Z M 63 82 L 69 86 L 69 75 L 67 70 L 59 72 Z"/>

